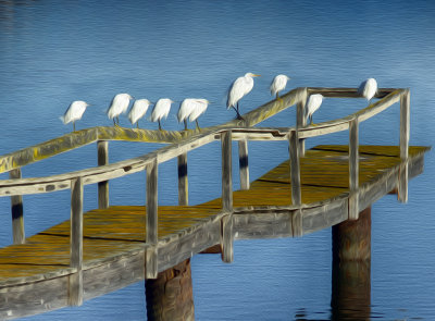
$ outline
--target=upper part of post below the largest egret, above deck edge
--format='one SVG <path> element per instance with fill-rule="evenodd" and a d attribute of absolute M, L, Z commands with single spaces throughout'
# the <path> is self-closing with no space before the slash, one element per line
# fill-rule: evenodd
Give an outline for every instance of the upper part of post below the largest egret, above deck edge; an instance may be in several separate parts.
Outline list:
<path fill-rule="evenodd" d="M 221 134 L 222 148 L 222 209 L 233 211 L 232 132 Z"/>

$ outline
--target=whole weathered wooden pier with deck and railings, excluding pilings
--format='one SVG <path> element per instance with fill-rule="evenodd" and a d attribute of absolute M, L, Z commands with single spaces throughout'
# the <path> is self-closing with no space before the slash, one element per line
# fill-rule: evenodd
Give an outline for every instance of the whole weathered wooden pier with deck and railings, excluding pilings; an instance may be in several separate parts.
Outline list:
<path fill-rule="evenodd" d="M 409 146 L 409 89 L 380 89 L 380 100 L 368 108 L 307 126 L 304 102 L 316 92 L 358 98 L 355 88 L 297 88 L 245 114 L 244 120 L 201 131 L 96 127 L 0 157 L 0 171 L 10 172 L 10 180 L 0 181 L 0 196 L 11 197 L 14 239 L 13 245 L 0 249 L 0 318 L 80 305 L 140 280 L 160 277 L 196 254 L 210 248 L 216 251 L 216 245 L 223 261 L 232 262 L 235 239 L 296 237 L 356 221 L 361 211 L 391 190 L 397 190 L 400 201 L 407 201 L 408 181 L 422 173 L 428 150 Z M 359 123 L 396 102 L 400 102 L 399 144 L 360 146 Z M 296 126 L 253 127 L 295 104 Z M 348 145 L 306 150 L 304 139 L 340 131 L 349 131 Z M 110 164 L 109 140 L 170 145 Z M 187 153 L 215 140 L 222 149 L 222 197 L 189 206 Z M 238 141 L 239 152 L 241 189 L 236 192 L 233 140 Z M 250 182 L 249 140 L 286 140 L 289 159 Z M 24 165 L 91 143 L 98 147 L 97 168 L 21 177 Z M 174 158 L 179 206 L 158 206 L 159 164 Z M 110 206 L 108 182 L 133 173 L 146 177 L 146 205 Z M 83 213 L 83 188 L 88 184 L 98 185 L 99 209 Z M 71 220 L 26 238 L 22 195 L 61 189 L 71 189 Z M 191 316 L 190 308 L 186 311 Z"/>

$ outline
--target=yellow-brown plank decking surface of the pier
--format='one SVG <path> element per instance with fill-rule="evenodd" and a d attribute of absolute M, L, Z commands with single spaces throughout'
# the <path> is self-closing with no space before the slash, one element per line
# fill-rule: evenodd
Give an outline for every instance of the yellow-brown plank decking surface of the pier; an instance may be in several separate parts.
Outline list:
<path fill-rule="evenodd" d="M 409 157 L 423 153 L 425 147 L 410 147 Z M 360 146 L 360 186 L 400 163 L 397 146 Z M 318 146 L 300 160 L 302 202 L 327 201 L 349 193 L 348 147 Z M 259 180 L 249 190 L 233 193 L 237 209 L 288 207 L 291 203 L 289 162 L 285 161 Z M 158 210 L 159 239 L 195 233 L 192 227 L 222 212 L 221 199 L 198 206 L 161 206 Z M 83 269 L 98 266 L 142 248 L 146 237 L 146 209 L 140 206 L 112 206 L 91 210 L 84 215 Z M 70 273 L 70 221 L 28 237 L 26 244 L 0 249 L 0 288 Z"/>

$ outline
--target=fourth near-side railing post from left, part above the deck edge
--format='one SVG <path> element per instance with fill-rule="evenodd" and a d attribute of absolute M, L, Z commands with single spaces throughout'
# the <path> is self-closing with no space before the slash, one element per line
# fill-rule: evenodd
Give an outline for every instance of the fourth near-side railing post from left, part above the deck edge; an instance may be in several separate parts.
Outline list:
<path fill-rule="evenodd" d="M 291 203 L 300 206 L 302 203 L 302 192 L 300 186 L 299 139 L 297 131 L 290 132 L 288 143 L 290 151 Z"/>

